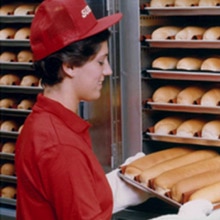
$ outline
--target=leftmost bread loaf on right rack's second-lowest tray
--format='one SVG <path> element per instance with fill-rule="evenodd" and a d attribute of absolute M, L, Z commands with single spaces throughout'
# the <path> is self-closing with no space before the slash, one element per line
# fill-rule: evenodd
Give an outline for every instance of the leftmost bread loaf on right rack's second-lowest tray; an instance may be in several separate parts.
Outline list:
<path fill-rule="evenodd" d="M 161 86 L 153 93 L 152 100 L 156 103 L 176 102 L 175 99 L 181 90 L 179 86 Z"/>

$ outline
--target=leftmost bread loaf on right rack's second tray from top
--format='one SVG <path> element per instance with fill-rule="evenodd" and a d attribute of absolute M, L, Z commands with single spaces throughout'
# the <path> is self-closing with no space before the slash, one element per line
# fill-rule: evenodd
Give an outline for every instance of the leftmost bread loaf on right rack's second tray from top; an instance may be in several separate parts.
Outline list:
<path fill-rule="evenodd" d="M 169 40 L 175 39 L 176 34 L 181 30 L 176 26 L 163 26 L 153 31 L 151 38 L 153 40 Z"/>

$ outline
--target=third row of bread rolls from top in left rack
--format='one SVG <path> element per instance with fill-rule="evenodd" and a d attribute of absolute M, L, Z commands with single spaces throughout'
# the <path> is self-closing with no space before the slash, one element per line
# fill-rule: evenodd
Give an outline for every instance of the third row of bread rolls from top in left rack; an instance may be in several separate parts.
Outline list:
<path fill-rule="evenodd" d="M 4 51 L 0 54 L 0 62 L 34 62 L 34 56 L 28 49 L 19 52 Z"/>

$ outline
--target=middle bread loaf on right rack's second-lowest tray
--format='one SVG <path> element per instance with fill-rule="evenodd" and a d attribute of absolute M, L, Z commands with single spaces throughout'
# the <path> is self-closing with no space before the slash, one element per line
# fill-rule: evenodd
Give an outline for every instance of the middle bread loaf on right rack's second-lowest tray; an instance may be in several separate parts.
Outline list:
<path fill-rule="evenodd" d="M 176 98 L 177 104 L 192 105 L 205 94 L 206 89 L 201 86 L 189 86 L 183 89 Z"/>

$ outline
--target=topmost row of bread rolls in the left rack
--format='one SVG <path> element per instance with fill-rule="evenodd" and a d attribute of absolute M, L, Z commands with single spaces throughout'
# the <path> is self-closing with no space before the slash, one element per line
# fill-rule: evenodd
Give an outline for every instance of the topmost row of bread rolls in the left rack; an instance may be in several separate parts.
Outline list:
<path fill-rule="evenodd" d="M 38 3 L 11 3 L 0 7 L 0 15 L 34 15 L 38 9 Z"/>

